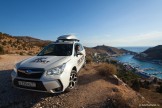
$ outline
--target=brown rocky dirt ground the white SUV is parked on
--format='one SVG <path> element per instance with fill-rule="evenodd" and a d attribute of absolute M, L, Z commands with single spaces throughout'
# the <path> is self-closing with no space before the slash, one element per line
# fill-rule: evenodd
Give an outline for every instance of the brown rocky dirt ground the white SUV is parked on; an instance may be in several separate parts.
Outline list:
<path fill-rule="evenodd" d="M 0 108 L 126 108 L 146 103 L 144 97 L 115 79 L 100 76 L 96 64 L 79 72 L 78 86 L 71 92 L 49 94 L 12 87 L 13 65 L 29 56 L 0 56 Z"/>

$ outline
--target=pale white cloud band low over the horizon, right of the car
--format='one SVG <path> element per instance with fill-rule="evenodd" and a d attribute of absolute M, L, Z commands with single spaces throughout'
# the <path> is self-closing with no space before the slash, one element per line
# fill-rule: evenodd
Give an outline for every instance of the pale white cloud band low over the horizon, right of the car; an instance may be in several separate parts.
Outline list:
<path fill-rule="evenodd" d="M 162 32 L 150 32 L 133 36 L 102 36 L 87 38 L 83 41 L 85 46 L 156 46 L 162 44 Z"/>

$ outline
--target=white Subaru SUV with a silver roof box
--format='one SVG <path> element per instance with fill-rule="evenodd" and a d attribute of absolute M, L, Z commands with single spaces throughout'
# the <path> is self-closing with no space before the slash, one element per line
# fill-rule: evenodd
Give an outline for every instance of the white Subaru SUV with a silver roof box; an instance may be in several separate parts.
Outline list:
<path fill-rule="evenodd" d="M 76 86 L 85 57 L 85 49 L 75 36 L 60 36 L 37 56 L 15 65 L 11 73 L 13 85 L 50 93 L 69 91 Z"/>

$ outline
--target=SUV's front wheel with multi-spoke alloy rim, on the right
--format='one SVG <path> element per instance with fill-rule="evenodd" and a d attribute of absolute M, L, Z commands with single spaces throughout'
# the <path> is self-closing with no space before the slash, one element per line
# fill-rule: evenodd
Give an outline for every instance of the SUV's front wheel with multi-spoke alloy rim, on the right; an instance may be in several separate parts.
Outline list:
<path fill-rule="evenodd" d="M 72 89 L 74 89 L 78 83 L 78 75 L 77 75 L 77 72 L 75 70 L 72 70 L 71 71 L 71 74 L 70 74 L 70 79 L 69 79 L 69 86 L 67 87 L 66 91 L 69 92 L 71 91 Z"/>

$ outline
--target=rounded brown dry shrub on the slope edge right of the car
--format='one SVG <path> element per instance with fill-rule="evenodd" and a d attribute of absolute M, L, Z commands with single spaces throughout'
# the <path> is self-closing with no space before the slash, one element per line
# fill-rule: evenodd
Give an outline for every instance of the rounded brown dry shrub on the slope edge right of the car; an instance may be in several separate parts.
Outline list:
<path fill-rule="evenodd" d="M 113 64 L 102 63 L 96 69 L 101 76 L 109 77 L 117 73 L 116 66 Z"/>

